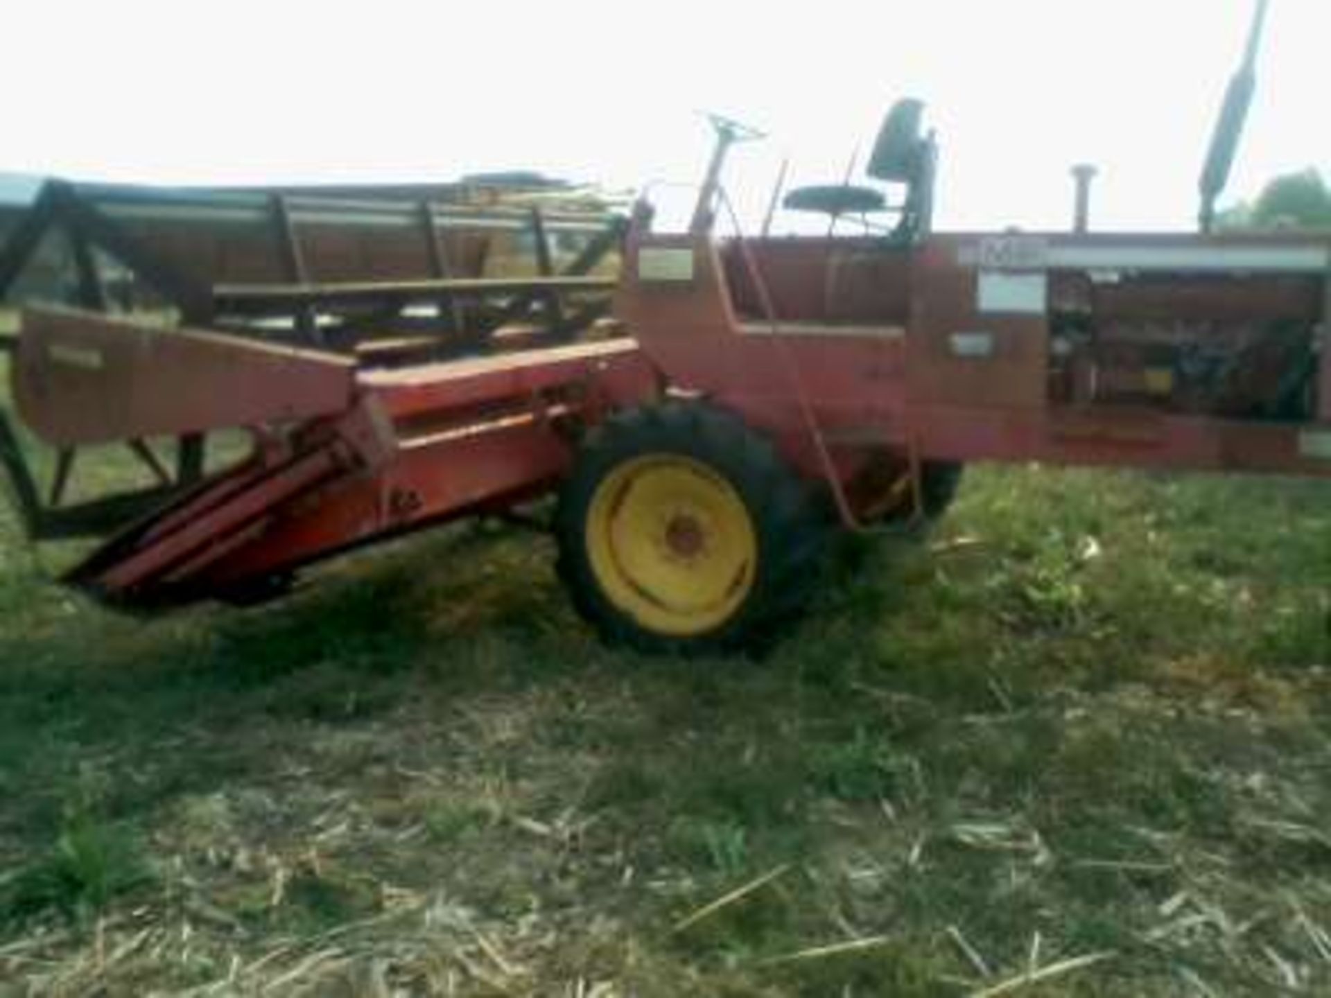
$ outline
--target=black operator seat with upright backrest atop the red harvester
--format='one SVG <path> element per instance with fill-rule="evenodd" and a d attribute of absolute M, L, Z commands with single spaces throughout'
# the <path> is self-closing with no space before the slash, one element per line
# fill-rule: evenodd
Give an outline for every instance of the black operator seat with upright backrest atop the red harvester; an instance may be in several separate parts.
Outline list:
<path fill-rule="evenodd" d="M 793 212 L 831 216 L 869 216 L 896 212 L 894 238 L 913 241 L 929 232 L 933 221 L 933 181 L 937 145 L 933 133 L 922 134 L 924 101 L 906 97 L 897 101 L 882 120 L 865 174 L 882 184 L 904 184 L 905 200 L 889 205 L 878 188 L 853 184 L 824 184 L 796 188 L 781 201 Z"/>

